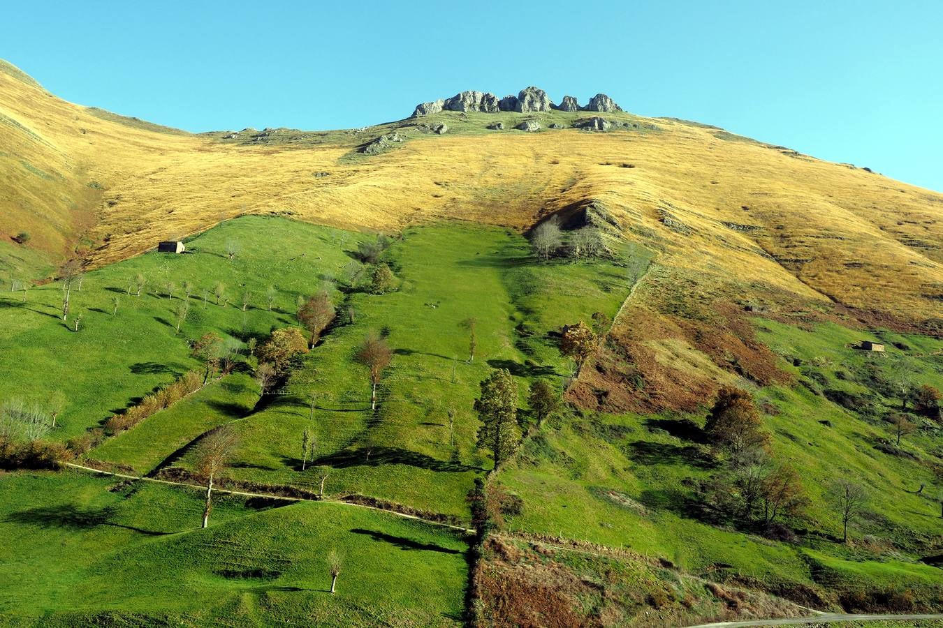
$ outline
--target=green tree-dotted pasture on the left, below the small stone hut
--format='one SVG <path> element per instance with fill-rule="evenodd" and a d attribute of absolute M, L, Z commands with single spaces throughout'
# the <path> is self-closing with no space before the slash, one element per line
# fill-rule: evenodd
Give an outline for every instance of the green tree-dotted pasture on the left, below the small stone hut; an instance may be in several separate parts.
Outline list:
<path fill-rule="evenodd" d="M 61 320 L 58 282 L 30 290 L 25 302 L 23 293 L 0 294 L 5 330 L 0 369 L 7 374 L 0 379 L 0 398 L 42 403 L 61 391 L 67 406 L 53 435 L 59 440 L 73 437 L 158 385 L 200 368 L 190 358 L 189 342 L 204 333 L 217 332 L 241 347 L 250 337 L 264 338 L 273 327 L 293 323 L 296 298 L 317 292 L 324 277 L 337 274 L 349 261 L 341 237 L 351 247 L 359 236 L 269 217 L 229 222 L 188 242 L 190 253 L 152 252 L 90 272 L 81 290 L 72 291 L 69 325 Z M 223 254 L 227 242 L 240 248 L 231 262 Z M 273 250 L 278 250 L 277 259 Z M 129 296 L 129 282 L 139 274 L 146 280 L 141 297 L 135 296 L 134 286 Z M 168 282 L 174 284 L 174 298 L 167 298 Z M 178 333 L 176 309 L 184 282 L 193 289 Z M 220 305 L 213 294 L 218 282 L 225 285 Z M 265 296 L 269 286 L 277 289 L 272 312 Z M 245 292 L 252 304 L 242 312 Z M 119 299 L 115 315 L 114 298 Z M 82 318 L 76 332 L 78 314 Z M 223 410 L 232 418 L 239 414 L 236 407 Z"/>

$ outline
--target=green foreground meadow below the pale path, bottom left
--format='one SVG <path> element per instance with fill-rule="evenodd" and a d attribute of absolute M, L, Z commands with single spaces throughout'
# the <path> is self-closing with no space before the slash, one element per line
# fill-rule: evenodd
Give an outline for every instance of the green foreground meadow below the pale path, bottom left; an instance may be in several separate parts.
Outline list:
<path fill-rule="evenodd" d="M 0 624 L 457 625 L 465 539 L 360 507 L 0 475 Z M 343 556 L 338 593 L 325 558 Z"/>

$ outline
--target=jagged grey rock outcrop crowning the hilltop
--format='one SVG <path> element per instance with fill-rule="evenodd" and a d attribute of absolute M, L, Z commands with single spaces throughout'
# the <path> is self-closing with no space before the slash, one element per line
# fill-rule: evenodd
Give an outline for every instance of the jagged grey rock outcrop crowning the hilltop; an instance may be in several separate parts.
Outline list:
<path fill-rule="evenodd" d="M 516 111 L 530 113 L 537 111 L 596 111 L 611 113 L 622 108 L 609 96 L 599 93 L 589 99 L 586 106 L 580 106 L 573 96 L 564 96 L 559 105 L 554 105 L 543 89 L 529 87 L 521 89 L 517 96 L 508 95 L 498 98 L 489 91 L 462 91 L 452 98 L 438 99 L 416 105 L 411 118 L 421 118 L 439 111 L 475 111 L 497 113 L 498 111 Z"/>

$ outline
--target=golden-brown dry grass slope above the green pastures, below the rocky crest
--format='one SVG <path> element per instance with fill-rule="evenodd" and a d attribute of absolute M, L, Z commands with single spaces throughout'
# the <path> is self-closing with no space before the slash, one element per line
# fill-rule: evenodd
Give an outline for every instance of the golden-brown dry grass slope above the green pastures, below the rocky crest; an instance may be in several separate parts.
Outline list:
<path fill-rule="evenodd" d="M 941 315 L 943 195 L 714 127 L 606 117 L 656 129 L 471 133 L 473 115 L 443 113 L 455 129 L 444 136 L 402 121 L 316 142 L 232 142 L 67 103 L 2 64 L 0 233 L 27 231 L 57 260 L 84 238 L 97 265 L 246 213 L 526 228 L 595 200 L 696 290 L 762 286 L 902 324 Z M 354 153 L 393 128 L 407 141 Z"/>

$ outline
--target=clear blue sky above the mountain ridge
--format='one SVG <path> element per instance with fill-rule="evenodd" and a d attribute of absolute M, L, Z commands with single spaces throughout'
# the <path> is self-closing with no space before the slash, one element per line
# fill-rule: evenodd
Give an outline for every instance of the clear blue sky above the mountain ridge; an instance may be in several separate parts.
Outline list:
<path fill-rule="evenodd" d="M 31 2 L 0 57 L 190 131 L 364 126 L 528 85 L 943 190 L 943 2 Z"/>

